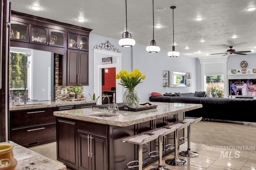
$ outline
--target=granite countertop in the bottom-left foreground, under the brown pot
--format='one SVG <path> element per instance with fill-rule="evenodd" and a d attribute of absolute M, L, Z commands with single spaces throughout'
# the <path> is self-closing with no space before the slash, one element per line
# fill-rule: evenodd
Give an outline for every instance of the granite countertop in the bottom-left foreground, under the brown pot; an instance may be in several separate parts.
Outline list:
<path fill-rule="evenodd" d="M 18 161 L 15 170 L 66 170 L 64 164 L 22 147 L 12 141 L 2 142 L 0 144 L 6 143 L 14 146 L 12 152 L 14 158 Z"/>

